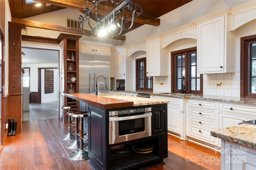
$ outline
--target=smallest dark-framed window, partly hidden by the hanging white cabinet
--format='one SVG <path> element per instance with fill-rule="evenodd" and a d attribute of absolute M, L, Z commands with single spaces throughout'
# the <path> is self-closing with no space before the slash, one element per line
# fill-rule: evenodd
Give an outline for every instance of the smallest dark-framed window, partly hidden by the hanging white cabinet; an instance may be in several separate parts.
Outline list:
<path fill-rule="evenodd" d="M 136 90 L 153 91 L 153 78 L 146 76 L 146 57 L 136 59 Z"/>

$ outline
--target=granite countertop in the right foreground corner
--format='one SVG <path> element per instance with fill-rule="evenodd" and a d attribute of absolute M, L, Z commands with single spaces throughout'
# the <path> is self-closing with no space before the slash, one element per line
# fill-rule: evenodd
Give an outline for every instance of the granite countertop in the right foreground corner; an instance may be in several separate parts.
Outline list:
<path fill-rule="evenodd" d="M 256 149 L 256 125 L 241 124 L 211 131 L 213 137 Z"/>

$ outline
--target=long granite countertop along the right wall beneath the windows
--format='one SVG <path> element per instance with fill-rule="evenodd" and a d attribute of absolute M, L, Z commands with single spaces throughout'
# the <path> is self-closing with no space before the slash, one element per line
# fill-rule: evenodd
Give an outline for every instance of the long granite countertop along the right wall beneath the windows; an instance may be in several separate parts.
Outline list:
<path fill-rule="evenodd" d="M 181 93 L 171 93 L 171 92 L 140 92 L 136 90 L 116 90 L 113 92 L 130 92 L 130 93 L 144 93 L 150 95 L 166 96 L 166 97 L 178 97 L 178 98 L 191 98 L 191 99 L 202 99 L 202 100 L 215 100 L 220 102 L 234 102 L 241 104 L 255 104 L 255 98 L 239 98 L 239 97 L 226 97 L 226 96 L 210 96 L 210 95 L 196 95 L 196 94 L 181 94 Z"/>

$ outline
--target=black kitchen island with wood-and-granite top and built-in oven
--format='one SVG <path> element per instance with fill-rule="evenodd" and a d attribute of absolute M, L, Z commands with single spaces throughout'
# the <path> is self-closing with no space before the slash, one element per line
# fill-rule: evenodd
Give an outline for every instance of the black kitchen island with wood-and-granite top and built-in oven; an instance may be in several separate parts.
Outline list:
<path fill-rule="evenodd" d="M 137 170 L 164 164 L 168 156 L 168 101 L 84 93 L 64 96 L 86 106 L 84 126 L 88 131 L 89 163 L 94 169 Z"/>

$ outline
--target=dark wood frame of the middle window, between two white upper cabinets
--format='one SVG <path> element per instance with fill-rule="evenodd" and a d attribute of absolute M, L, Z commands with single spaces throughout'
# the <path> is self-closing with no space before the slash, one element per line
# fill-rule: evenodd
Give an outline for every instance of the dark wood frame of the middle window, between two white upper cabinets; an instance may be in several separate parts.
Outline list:
<path fill-rule="evenodd" d="M 197 52 L 197 47 L 192 47 L 188 49 L 182 49 L 178 51 L 172 51 L 171 52 L 171 88 L 172 92 L 175 93 L 181 93 L 180 90 L 176 90 L 176 55 L 184 53 L 185 56 L 188 56 L 190 52 L 196 51 Z M 185 68 L 189 68 L 189 57 L 185 57 Z M 186 77 L 189 76 L 189 70 L 185 69 L 185 88 L 189 87 L 188 81 L 186 81 Z M 190 92 L 189 90 L 186 90 L 186 94 L 203 94 L 203 74 L 200 74 L 200 91 L 194 91 Z"/>

